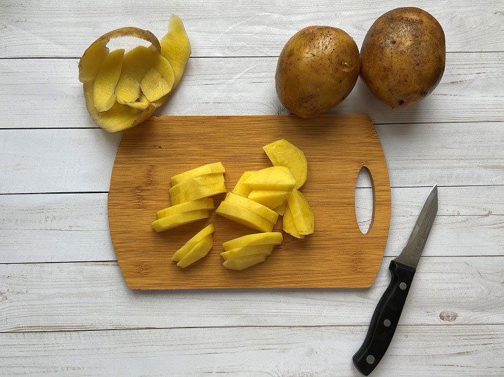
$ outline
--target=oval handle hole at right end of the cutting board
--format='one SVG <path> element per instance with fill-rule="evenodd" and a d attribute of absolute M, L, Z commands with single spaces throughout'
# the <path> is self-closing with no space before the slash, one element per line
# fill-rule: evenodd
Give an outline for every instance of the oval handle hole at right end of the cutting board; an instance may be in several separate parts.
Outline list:
<path fill-rule="evenodd" d="M 362 234 L 369 234 L 373 226 L 375 194 L 373 176 L 365 166 L 357 174 L 355 190 L 356 221 Z"/>

